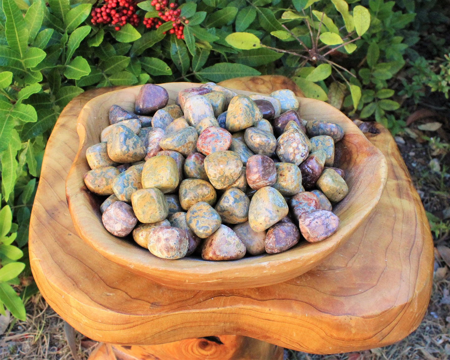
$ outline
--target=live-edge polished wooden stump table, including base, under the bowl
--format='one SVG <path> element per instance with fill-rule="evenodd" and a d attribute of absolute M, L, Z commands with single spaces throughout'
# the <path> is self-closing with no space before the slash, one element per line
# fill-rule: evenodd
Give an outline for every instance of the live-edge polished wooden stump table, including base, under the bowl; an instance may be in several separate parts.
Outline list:
<path fill-rule="evenodd" d="M 279 76 L 224 85 L 266 93 L 290 87 L 300 94 Z M 295 279 L 261 288 L 183 291 L 95 252 L 75 232 L 65 178 L 78 148 L 78 113 L 111 90 L 86 91 L 61 113 L 30 220 L 36 284 L 64 320 L 99 341 L 90 360 L 282 359 L 283 347 L 332 354 L 386 346 L 419 325 L 432 288 L 432 238 L 396 143 L 379 125 L 379 133 L 367 137 L 387 158 L 382 198 L 347 243 Z"/>

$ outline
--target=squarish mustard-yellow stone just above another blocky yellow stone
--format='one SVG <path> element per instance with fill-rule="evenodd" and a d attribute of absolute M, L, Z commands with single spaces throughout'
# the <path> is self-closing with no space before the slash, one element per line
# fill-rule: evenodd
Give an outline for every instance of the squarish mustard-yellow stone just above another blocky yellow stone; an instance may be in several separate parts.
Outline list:
<path fill-rule="evenodd" d="M 144 189 L 157 188 L 162 193 L 171 193 L 176 189 L 178 183 L 178 168 L 175 160 L 170 156 L 157 155 L 150 157 L 145 162 L 142 170 L 142 187 Z"/>

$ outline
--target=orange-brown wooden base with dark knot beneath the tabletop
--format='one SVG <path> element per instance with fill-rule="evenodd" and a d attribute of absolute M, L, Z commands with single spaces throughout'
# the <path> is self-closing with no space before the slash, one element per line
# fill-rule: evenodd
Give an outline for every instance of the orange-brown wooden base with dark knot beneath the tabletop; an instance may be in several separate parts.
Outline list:
<path fill-rule="evenodd" d="M 239 335 L 186 339 L 161 345 L 99 343 L 89 360 L 282 360 L 283 348 Z"/>

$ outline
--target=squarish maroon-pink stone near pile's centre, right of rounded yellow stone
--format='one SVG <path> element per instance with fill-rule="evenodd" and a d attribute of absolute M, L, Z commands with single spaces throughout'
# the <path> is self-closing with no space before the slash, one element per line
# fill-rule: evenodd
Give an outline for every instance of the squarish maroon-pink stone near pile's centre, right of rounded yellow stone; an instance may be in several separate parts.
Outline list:
<path fill-rule="evenodd" d="M 261 189 L 264 186 L 275 184 L 277 169 L 274 161 L 265 155 L 253 155 L 248 158 L 245 168 L 247 184 L 252 189 Z"/>

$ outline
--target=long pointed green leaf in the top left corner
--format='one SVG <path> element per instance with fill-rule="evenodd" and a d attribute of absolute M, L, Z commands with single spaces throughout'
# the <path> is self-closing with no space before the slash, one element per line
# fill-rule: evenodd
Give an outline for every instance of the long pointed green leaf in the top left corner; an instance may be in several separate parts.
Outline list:
<path fill-rule="evenodd" d="M 27 51 L 27 23 L 14 0 L 3 0 L 3 11 L 6 18 L 5 36 L 8 45 L 23 58 Z"/>

